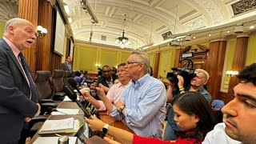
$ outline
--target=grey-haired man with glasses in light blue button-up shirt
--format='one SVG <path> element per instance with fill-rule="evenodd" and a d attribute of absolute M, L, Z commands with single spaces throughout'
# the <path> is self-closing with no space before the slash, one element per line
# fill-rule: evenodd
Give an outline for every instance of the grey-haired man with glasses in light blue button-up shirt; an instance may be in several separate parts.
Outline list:
<path fill-rule="evenodd" d="M 130 54 L 126 71 L 132 82 L 124 90 L 120 102 L 113 106 L 110 116 L 122 120 L 139 136 L 161 139 L 166 113 L 165 86 L 150 77 L 150 58 L 145 53 Z"/>

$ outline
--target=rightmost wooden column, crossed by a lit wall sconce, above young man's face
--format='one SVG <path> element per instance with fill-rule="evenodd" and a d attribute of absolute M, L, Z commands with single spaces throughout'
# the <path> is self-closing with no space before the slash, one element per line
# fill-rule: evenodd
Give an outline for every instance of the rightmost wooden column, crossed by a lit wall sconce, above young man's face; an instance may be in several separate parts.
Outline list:
<path fill-rule="evenodd" d="M 240 71 L 244 68 L 246 64 L 246 53 L 248 46 L 248 36 L 242 36 L 237 38 L 235 51 L 234 51 L 234 59 L 231 70 Z M 231 77 L 229 84 L 228 97 L 226 98 L 226 103 L 230 102 L 233 99 L 233 88 L 238 85 L 238 78 Z"/>

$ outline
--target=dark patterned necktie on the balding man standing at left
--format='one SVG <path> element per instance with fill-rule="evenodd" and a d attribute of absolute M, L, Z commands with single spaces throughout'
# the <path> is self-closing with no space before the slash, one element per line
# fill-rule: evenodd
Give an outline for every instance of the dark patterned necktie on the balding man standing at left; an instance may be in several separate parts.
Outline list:
<path fill-rule="evenodd" d="M 30 69 L 29 69 L 29 66 L 26 62 L 26 58 L 23 56 L 22 53 L 19 53 L 18 54 L 19 58 L 21 58 L 21 63 L 22 63 L 22 67 L 26 73 L 26 77 L 27 79 L 29 80 L 30 82 L 30 92 L 31 92 L 31 100 L 35 103 L 38 103 L 38 94 L 37 94 L 37 90 L 35 88 L 35 85 L 34 85 L 34 81 L 31 77 L 31 74 L 30 74 Z"/>

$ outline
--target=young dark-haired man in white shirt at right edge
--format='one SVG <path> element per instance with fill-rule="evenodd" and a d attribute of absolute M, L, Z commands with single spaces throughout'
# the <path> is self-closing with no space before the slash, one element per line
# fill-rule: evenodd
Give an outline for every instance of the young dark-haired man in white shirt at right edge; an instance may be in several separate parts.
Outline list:
<path fill-rule="evenodd" d="M 222 107 L 223 122 L 211 130 L 203 144 L 256 143 L 256 63 L 238 74 L 234 99 Z"/>

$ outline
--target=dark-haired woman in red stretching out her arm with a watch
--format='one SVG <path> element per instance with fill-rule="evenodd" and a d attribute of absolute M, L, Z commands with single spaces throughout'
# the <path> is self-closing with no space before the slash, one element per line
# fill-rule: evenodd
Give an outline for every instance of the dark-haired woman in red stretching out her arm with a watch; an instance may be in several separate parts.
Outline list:
<path fill-rule="evenodd" d="M 102 130 L 108 127 L 106 134 L 124 143 L 202 143 L 206 134 L 214 129 L 217 118 L 211 110 L 209 103 L 202 94 L 198 92 L 185 92 L 174 98 L 174 121 L 177 122 L 180 131 L 177 132 L 179 138 L 176 141 L 162 141 L 156 138 L 142 138 L 136 134 L 122 129 L 108 126 L 96 117 L 86 118 L 86 122 L 91 130 Z M 104 138 L 110 143 L 116 143 L 109 138 Z"/>

